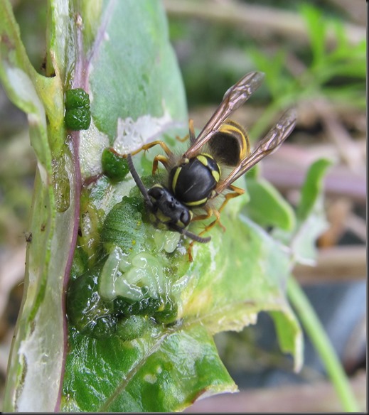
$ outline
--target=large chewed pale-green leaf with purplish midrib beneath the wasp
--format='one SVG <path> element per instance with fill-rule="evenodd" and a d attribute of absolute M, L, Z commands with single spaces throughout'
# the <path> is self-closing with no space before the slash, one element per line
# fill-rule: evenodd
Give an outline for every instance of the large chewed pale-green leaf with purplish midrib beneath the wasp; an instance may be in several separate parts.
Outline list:
<path fill-rule="evenodd" d="M 147 220 L 131 176 L 112 183 L 102 175 L 108 146 L 133 151 L 165 136 L 171 149 L 186 147 L 174 138 L 178 131 L 186 134 L 178 129 L 178 122 L 187 119 L 186 100 L 159 1 L 99 1 L 92 10 L 89 1 L 50 0 L 46 73 L 53 77 L 29 65 L 8 1 L 1 2 L 0 12 L 1 40 L 6 39 L 1 42 L 1 80 L 28 113 L 38 157 L 33 240 L 4 409 L 58 411 L 62 401 L 61 409 L 71 411 L 179 411 L 201 394 L 234 392 L 212 337 L 255 323 L 260 311 L 273 313 L 282 349 L 299 366 L 301 331 L 285 298 L 291 257 L 286 247 L 238 215 L 240 201 L 225 209 L 227 231 L 216 227 L 209 244 L 195 244 L 190 263 L 188 241 L 182 237 L 177 247 L 180 235 L 154 230 Z M 92 120 L 88 130 L 67 135 L 64 95 L 70 88 L 89 95 Z M 152 156 L 134 158 L 140 173 L 149 173 Z M 135 220 L 127 223 L 139 232 L 134 238 L 132 232 L 123 235 L 123 280 L 137 272 L 142 288 L 151 284 L 154 293 L 168 291 L 178 308 L 160 308 L 137 320 L 143 323 L 135 332 L 140 337 L 128 340 L 134 318 L 115 326 L 109 318 L 114 303 L 105 308 L 105 299 L 95 304 L 87 296 L 95 316 L 107 313 L 112 331 L 102 325 L 99 338 L 90 338 L 70 323 L 67 339 L 69 275 L 75 283 L 90 273 L 99 290 L 101 274 L 95 267 L 103 263 L 105 272 L 115 272 L 117 263 L 107 263 L 114 252 L 107 247 L 112 242 L 107 235 L 114 228 L 105 230 L 105 219 L 124 196 L 132 203 L 127 215 Z M 137 198 L 141 203 L 132 202 Z M 90 318 L 86 297 L 77 300 L 80 313 Z M 78 316 L 70 313 L 69 318 Z"/>

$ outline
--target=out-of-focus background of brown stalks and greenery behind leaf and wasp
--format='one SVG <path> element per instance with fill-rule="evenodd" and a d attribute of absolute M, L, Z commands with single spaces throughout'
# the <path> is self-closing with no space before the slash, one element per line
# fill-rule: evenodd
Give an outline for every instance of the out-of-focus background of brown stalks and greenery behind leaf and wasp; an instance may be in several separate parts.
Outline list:
<path fill-rule="evenodd" d="M 45 54 L 46 1 L 14 0 L 21 36 L 36 69 Z M 324 181 L 329 227 L 315 267 L 296 266 L 303 285 L 366 411 L 366 16 L 363 0 L 164 0 L 183 74 L 189 116 L 202 127 L 225 90 L 252 70 L 264 85 L 235 119 L 255 142 L 285 107 L 298 122 L 261 173 L 294 205 L 310 164 L 333 161 Z M 35 25 L 37 22 L 37 25 Z M 24 261 L 36 158 L 26 116 L 0 86 L 0 407 Z M 245 270 L 246 274 L 247 270 Z M 304 368 L 279 350 L 261 313 L 242 333 L 215 336 L 240 389 L 186 411 L 334 412 L 336 394 L 306 338 Z"/>

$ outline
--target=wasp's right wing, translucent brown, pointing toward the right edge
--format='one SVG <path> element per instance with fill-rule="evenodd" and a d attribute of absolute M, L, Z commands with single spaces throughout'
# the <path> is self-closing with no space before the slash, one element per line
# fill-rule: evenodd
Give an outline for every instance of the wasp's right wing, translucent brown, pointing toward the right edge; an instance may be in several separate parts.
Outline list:
<path fill-rule="evenodd" d="M 230 186 L 237 178 L 240 178 L 250 168 L 254 167 L 255 164 L 267 156 L 273 153 L 279 148 L 285 139 L 292 133 L 294 126 L 296 125 L 296 111 L 294 109 L 288 109 L 282 117 L 279 119 L 277 124 L 269 130 L 264 139 L 260 141 L 257 148 L 252 151 L 250 156 L 244 158 L 240 164 L 234 168 L 229 176 L 225 180 L 221 181 L 215 188 L 215 195 L 220 195 L 228 186 Z"/>

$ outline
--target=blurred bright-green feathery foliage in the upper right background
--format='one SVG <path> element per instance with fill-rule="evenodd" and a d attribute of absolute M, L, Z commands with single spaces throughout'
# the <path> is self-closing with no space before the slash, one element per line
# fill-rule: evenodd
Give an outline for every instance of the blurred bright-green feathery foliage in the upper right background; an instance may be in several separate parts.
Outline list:
<path fill-rule="evenodd" d="M 267 107 L 252 135 L 260 134 L 281 109 L 316 97 L 365 109 L 366 41 L 355 45 L 348 41 L 343 13 L 324 1 L 241 3 L 286 6 L 295 11 L 304 21 L 309 42 L 302 46 L 288 36 L 257 38 L 238 25 L 171 18 L 171 39 L 189 107 L 220 102 L 235 79 L 250 70 L 261 70 L 266 73 L 264 87 L 252 102 Z M 333 47 L 328 45 L 331 31 L 336 38 Z M 292 59 L 297 68 L 292 68 Z"/>

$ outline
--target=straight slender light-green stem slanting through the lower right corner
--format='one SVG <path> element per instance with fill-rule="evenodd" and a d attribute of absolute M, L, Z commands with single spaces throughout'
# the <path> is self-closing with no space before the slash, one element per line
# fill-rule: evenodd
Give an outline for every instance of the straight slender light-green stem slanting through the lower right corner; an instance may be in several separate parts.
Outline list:
<path fill-rule="evenodd" d="M 304 291 L 302 291 L 299 284 L 292 277 L 289 279 L 288 284 L 288 296 L 292 305 L 296 309 L 299 315 L 299 319 L 306 330 L 307 335 L 311 340 L 311 343 L 316 347 L 316 350 L 323 360 L 323 364 L 326 366 L 331 381 L 338 397 L 341 399 L 343 409 L 346 412 L 359 412 L 358 403 L 353 395 L 351 385 L 348 382 L 343 367 L 338 360 L 336 351 L 333 349 L 328 336 L 326 335 L 321 322 L 311 304 L 306 298 Z"/>

